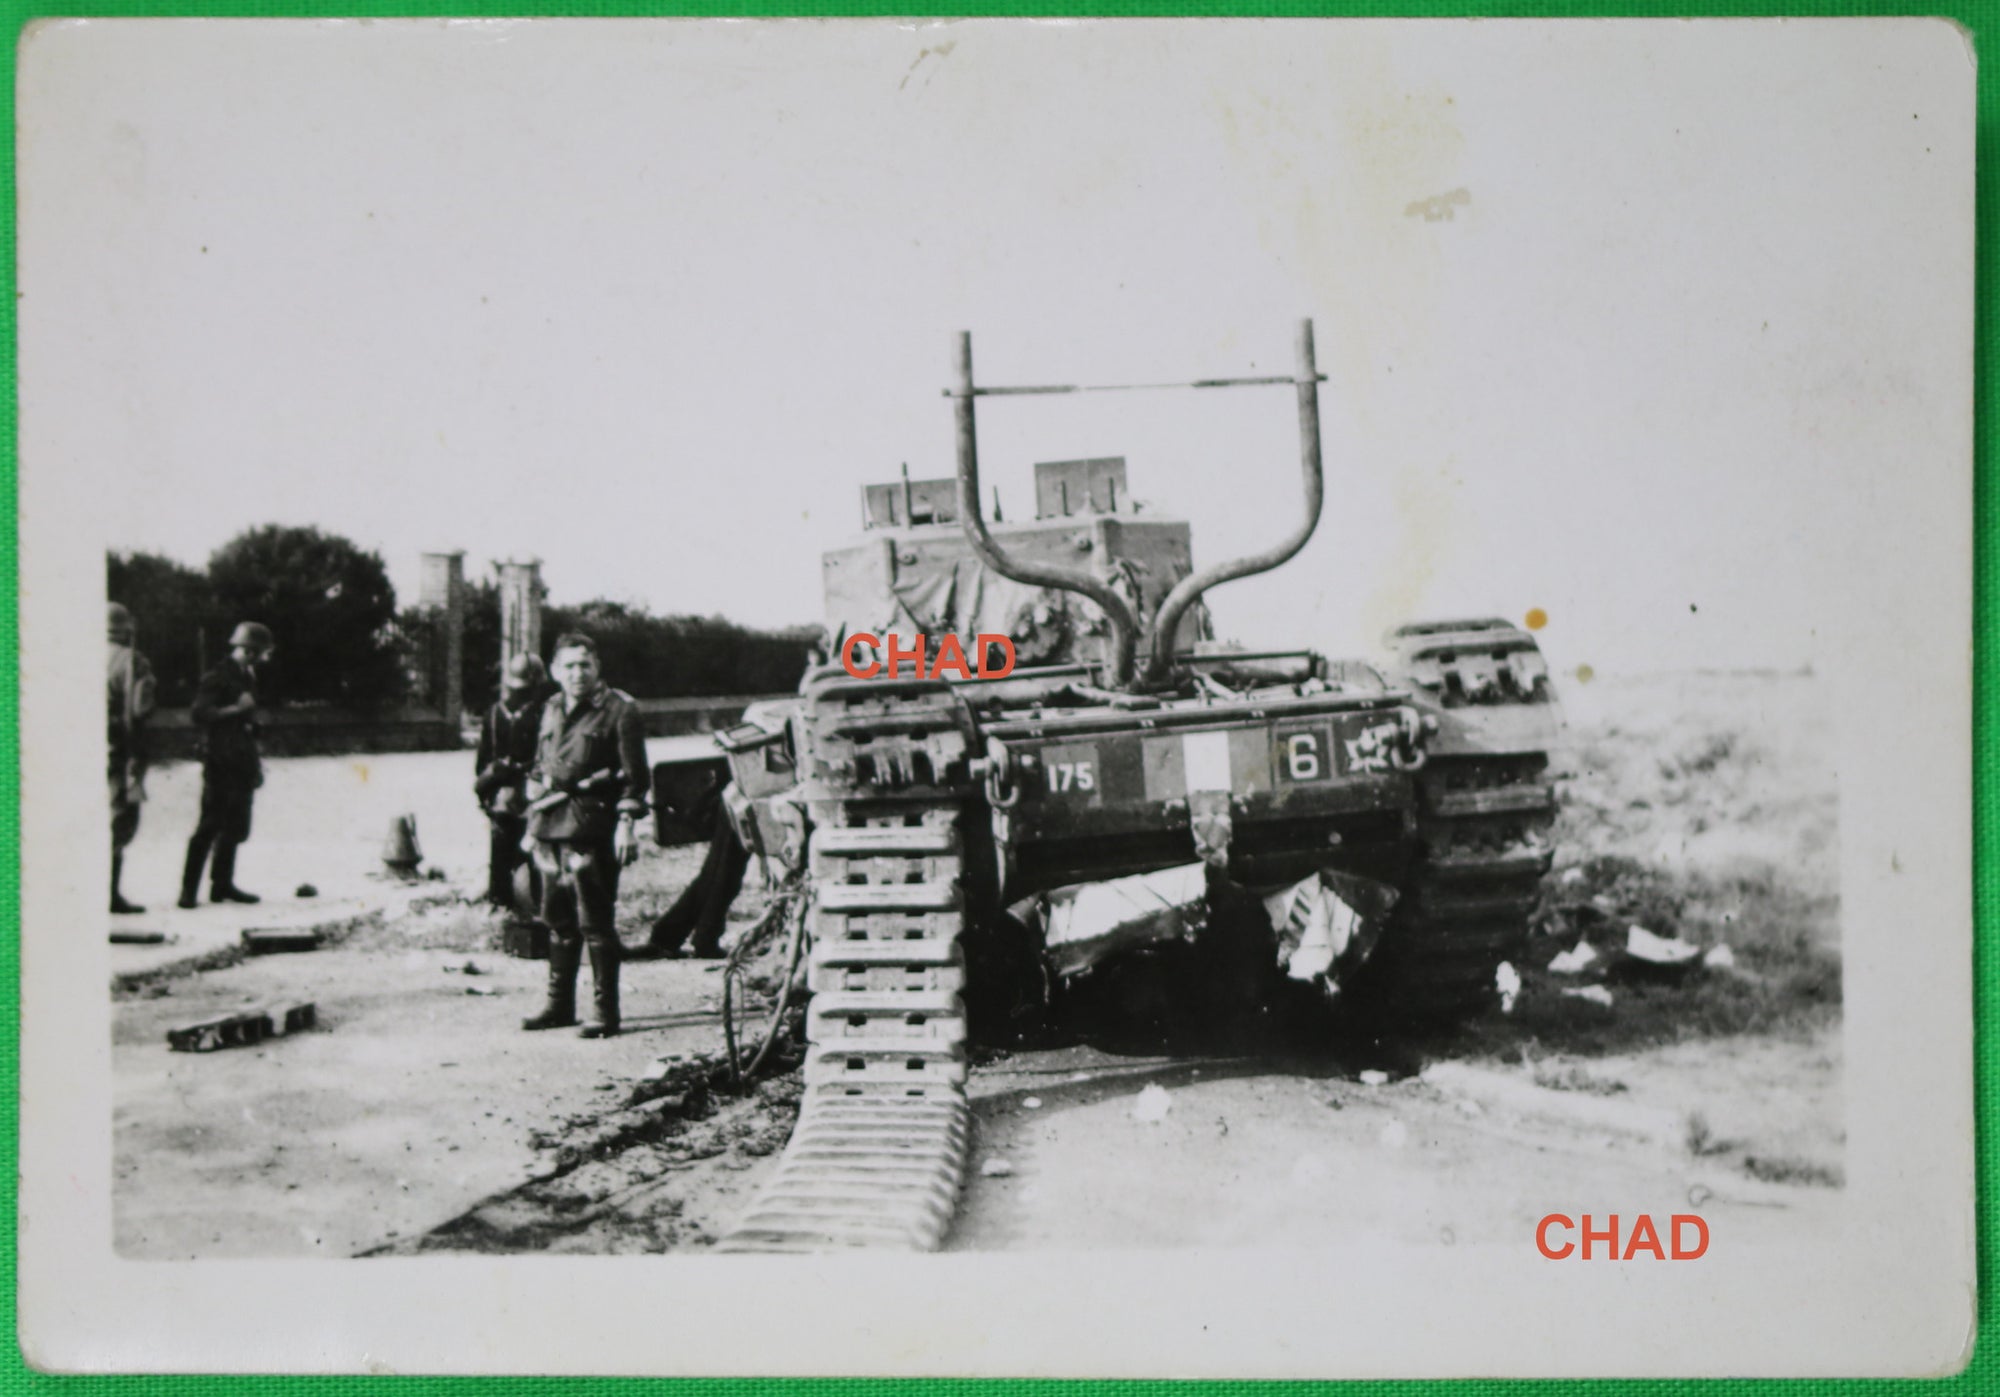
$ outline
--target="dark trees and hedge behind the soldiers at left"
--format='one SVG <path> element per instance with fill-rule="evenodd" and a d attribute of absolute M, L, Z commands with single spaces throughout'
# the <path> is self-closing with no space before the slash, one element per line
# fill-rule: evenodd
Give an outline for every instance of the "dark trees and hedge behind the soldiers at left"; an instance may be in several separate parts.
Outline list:
<path fill-rule="evenodd" d="M 432 616 L 398 608 L 380 554 L 338 534 L 266 524 L 216 548 L 206 570 L 152 552 L 112 552 L 106 590 L 132 612 L 170 709 L 194 701 L 202 670 L 228 652 L 242 620 L 262 620 L 278 646 L 266 703 L 368 713 L 420 692 Z M 606 678 L 640 698 L 790 692 L 820 638 L 816 626 L 756 630 L 720 616 L 654 616 L 616 600 L 544 606 L 544 650 L 564 630 L 590 632 Z M 494 701 L 500 586 L 492 580 L 466 586 L 460 674 L 468 709 Z"/>

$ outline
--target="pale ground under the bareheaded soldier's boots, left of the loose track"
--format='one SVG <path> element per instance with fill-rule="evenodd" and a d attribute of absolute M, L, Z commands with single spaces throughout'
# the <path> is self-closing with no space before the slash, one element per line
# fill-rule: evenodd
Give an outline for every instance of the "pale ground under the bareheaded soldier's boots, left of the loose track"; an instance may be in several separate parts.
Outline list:
<path fill-rule="evenodd" d="M 538 1131 L 622 1103 L 656 1057 L 720 1033 L 712 961 L 626 967 L 628 1031 L 590 1043 L 520 1033 L 540 963 L 404 933 L 256 957 L 118 1007 L 120 1255 L 352 1255 L 434 1227 L 544 1173 Z M 312 1033 L 166 1049 L 174 1025 L 302 999 Z"/>

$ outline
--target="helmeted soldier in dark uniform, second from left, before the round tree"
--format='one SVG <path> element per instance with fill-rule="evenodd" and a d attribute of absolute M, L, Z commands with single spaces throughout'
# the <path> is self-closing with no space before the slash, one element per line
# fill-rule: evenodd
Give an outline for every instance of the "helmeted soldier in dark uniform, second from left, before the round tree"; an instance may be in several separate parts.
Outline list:
<path fill-rule="evenodd" d="M 180 905 L 194 907 L 208 865 L 208 901 L 256 903 L 236 887 L 236 847 L 250 839 L 250 803 L 264 785 L 258 757 L 258 666 L 272 654 L 270 628 L 246 620 L 230 634 L 230 656 L 202 674 L 188 717 L 202 729 L 202 819 L 188 841 Z M 214 851 L 214 863 L 208 855 Z"/>

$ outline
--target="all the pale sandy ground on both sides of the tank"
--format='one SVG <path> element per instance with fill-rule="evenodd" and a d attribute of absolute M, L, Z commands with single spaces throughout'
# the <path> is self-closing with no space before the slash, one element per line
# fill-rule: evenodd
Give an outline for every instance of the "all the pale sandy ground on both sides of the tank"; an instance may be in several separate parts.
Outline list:
<path fill-rule="evenodd" d="M 1818 895 L 1836 873 L 1836 787 L 1818 765 L 1824 719 L 1810 680 L 1594 680 L 1580 701 L 1570 688 L 1558 871 L 1584 877 L 1586 863 L 1614 857 L 1712 879 L 1684 901 L 1686 927 L 1656 927 L 1704 945 L 1736 935 L 1728 897 L 1752 897 L 1782 871 L 1804 901 L 1780 911 L 1810 917 L 1778 931 L 1838 949 L 1836 909 Z M 388 819 L 410 811 L 452 879 L 426 893 L 470 891 L 484 839 L 464 761 L 272 763 L 244 881 L 286 889 L 310 877 L 332 897 L 382 905 L 370 873 Z M 172 811 L 192 823 L 190 775 L 154 787 L 128 885 L 142 901 L 172 883 L 186 833 Z M 656 851 L 634 871 L 628 941 L 694 863 L 694 851 Z M 756 895 L 740 899 L 738 929 L 756 907 Z M 460 901 L 392 913 L 332 949 L 120 997 L 124 1255 L 660 1251 L 706 1245 L 742 1207 L 790 1129 L 796 1075 L 746 1097 L 690 1099 L 598 1159 L 562 1149 L 630 1123 L 656 1059 L 718 1049 L 714 971 L 630 967 L 636 1033 L 624 1039 L 522 1035 L 542 967 L 494 953 L 496 923 Z M 1476 1035 L 1330 1047 L 1312 1061 L 1082 1047 L 980 1061 L 974 1169 L 948 1245 L 1520 1243 L 1548 1211 L 1694 1209 L 1716 1223 L 1718 1245 L 1838 1225 L 1838 1009 L 1726 1037 L 1690 1013 L 1684 1033 L 1632 1041 L 1572 1029 L 1592 1017 L 1616 1027 L 1640 1007 L 1670 1023 L 1674 991 L 1626 999 L 1620 987 L 1602 1009 L 1560 999 L 1564 989 L 1530 973 L 1516 1017 Z M 320 1029 L 256 1049 L 166 1051 L 176 1023 L 294 999 L 318 1003 Z M 1166 1093 L 1158 1121 L 1134 1115 L 1146 1089 Z"/>

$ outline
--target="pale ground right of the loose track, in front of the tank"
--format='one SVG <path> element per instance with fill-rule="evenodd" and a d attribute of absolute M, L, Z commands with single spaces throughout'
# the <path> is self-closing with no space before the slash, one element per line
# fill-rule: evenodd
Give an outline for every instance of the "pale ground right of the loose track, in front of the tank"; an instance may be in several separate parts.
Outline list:
<path fill-rule="evenodd" d="M 1742 1169 L 1758 1149 L 1840 1159 L 1836 1035 L 1746 1043 L 1726 1065 L 1708 1045 L 1592 1063 L 1614 1097 L 1494 1065 L 1362 1085 L 1348 1063 L 1070 1057 L 980 1073 L 950 1249 L 1518 1247 L 1548 1213 L 1694 1211 L 1728 1245 L 1838 1225 L 1838 1189 Z M 1802 1089 L 1774 1115 L 1760 1081 Z M 1166 1093 L 1158 1121 L 1140 1119 L 1146 1087 Z M 1704 1153 L 1688 1147 L 1696 1111 L 1716 1131 Z"/>

